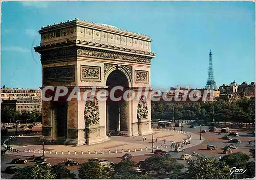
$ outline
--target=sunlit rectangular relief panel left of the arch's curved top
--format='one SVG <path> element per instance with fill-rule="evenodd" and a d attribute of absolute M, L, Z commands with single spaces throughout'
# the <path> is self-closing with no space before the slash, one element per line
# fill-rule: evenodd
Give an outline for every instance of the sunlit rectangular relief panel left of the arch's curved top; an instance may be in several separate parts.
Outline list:
<path fill-rule="evenodd" d="M 81 81 L 100 81 L 101 68 L 81 65 Z"/>

